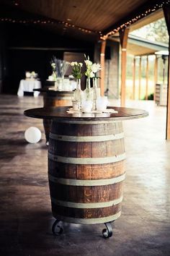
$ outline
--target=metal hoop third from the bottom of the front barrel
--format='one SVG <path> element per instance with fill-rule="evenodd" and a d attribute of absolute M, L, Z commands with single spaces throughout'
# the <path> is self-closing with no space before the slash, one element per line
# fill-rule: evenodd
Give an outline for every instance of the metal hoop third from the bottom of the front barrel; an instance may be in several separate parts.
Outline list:
<path fill-rule="evenodd" d="M 48 174 L 48 179 L 50 182 L 70 186 L 104 186 L 122 182 L 125 179 L 125 174 L 112 179 L 63 179 Z"/>

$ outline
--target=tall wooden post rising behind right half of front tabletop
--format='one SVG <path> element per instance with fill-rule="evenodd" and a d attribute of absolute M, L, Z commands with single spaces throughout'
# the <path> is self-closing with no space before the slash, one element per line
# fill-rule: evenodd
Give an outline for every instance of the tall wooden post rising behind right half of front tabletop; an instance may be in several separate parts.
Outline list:
<path fill-rule="evenodd" d="M 129 28 L 120 30 L 120 45 L 122 47 L 121 56 L 121 106 L 125 106 L 125 95 L 126 95 L 126 48 L 128 43 Z"/>

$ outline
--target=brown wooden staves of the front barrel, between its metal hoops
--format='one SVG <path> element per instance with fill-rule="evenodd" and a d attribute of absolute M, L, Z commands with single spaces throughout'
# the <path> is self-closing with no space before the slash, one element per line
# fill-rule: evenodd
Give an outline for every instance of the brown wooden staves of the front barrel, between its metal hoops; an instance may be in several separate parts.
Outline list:
<path fill-rule="evenodd" d="M 68 136 L 67 140 L 60 140 L 54 135 Z M 63 124 L 58 121 L 53 121 L 50 131 L 50 145 L 49 153 L 52 155 L 59 155 L 66 158 L 107 158 L 115 155 L 122 155 L 125 153 L 124 138 L 117 140 L 104 141 L 104 135 L 122 135 L 122 121 L 115 121 L 108 124 Z M 101 141 L 69 141 L 69 136 L 74 138 L 83 138 L 86 136 L 99 137 Z M 83 185 L 79 186 L 77 182 L 83 181 L 101 181 L 105 179 L 112 179 L 119 177 L 125 173 L 124 161 L 112 161 L 107 164 L 73 164 L 61 163 L 55 159 L 48 158 L 48 173 L 50 176 L 59 179 L 72 179 L 76 181 L 76 185 L 61 184 L 54 182 L 49 176 L 50 196 L 52 199 L 53 216 L 62 216 L 62 218 L 70 217 L 75 218 L 104 218 L 113 216 L 120 212 L 121 202 L 119 206 L 115 205 L 100 208 L 89 208 L 87 203 L 100 203 L 112 200 L 119 200 L 122 197 L 122 184 L 102 184 L 102 185 Z M 55 200 L 55 202 L 53 201 Z M 76 207 L 69 208 L 69 205 L 58 205 L 58 200 L 62 202 L 84 203 L 84 208 L 79 209 Z M 96 221 L 98 223 L 98 221 Z"/>

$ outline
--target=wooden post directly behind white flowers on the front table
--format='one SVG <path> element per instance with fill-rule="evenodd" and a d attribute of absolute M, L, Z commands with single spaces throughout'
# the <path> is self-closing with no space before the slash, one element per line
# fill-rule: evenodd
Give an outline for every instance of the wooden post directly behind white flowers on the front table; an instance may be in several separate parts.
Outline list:
<path fill-rule="evenodd" d="M 100 64 L 102 69 L 100 70 L 100 90 L 101 95 L 104 96 L 104 66 L 105 66 L 105 48 L 106 48 L 106 40 L 102 40 L 101 51 L 100 51 Z"/>

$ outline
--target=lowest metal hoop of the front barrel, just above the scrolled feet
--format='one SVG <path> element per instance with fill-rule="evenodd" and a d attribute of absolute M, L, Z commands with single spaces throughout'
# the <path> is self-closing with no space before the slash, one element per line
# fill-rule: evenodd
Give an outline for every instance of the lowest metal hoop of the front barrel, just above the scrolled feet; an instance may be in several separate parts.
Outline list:
<path fill-rule="evenodd" d="M 115 221 L 121 215 L 121 210 L 119 213 L 113 214 L 111 216 L 103 217 L 103 218 L 70 218 L 56 214 L 53 211 L 54 218 L 58 219 L 58 221 L 66 221 L 69 223 L 79 223 L 79 224 L 97 224 L 97 223 L 107 223 L 109 221 Z"/>

